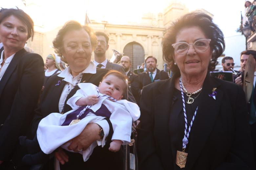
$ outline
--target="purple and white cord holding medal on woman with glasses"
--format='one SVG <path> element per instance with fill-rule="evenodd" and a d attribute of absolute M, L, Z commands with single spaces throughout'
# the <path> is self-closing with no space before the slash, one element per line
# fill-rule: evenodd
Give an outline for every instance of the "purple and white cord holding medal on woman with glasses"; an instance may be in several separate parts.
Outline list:
<path fill-rule="evenodd" d="M 182 97 L 182 105 L 183 105 L 183 112 L 184 112 L 184 119 L 185 119 L 185 131 L 184 131 L 184 137 L 182 139 L 182 147 L 183 149 L 186 149 L 186 146 L 188 144 L 188 137 L 189 137 L 189 133 L 190 133 L 190 130 L 192 128 L 192 125 L 193 125 L 193 122 L 195 120 L 195 117 L 196 117 L 196 114 L 197 114 L 197 109 L 198 107 L 196 108 L 196 111 L 194 113 L 194 116 L 190 122 L 190 126 L 189 128 L 187 129 L 187 115 L 186 115 L 186 109 L 185 109 L 185 100 L 184 100 L 184 93 L 182 91 L 182 85 L 181 85 L 181 77 L 180 77 L 180 87 L 181 87 L 181 97 Z"/>

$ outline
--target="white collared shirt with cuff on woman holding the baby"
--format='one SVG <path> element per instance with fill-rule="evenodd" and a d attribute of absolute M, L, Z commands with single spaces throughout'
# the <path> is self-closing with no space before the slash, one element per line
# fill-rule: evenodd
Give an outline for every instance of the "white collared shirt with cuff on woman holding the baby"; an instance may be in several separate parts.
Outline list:
<path fill-rule="evenodd" d="M 90 64 L 88 65 L 88 67 L 86 69 L 84 69 L 84 71 L 82 71 L 82 73 L 96 74 L 96 64 L 93 61 L 90 61 Z M 68 66 L 65 70 L 63 70 L 58 75 L 59 77 L 63 77 L 64 78 L 63 81 L 66 81 L 66 84 L 65 84 L 65 86 L 64 86 L 64 88 L 62 90 L 62 93 L 61 93 L 60 99 L 59 99 L 59 112 L 60 113 L 63 110 L 64 103 L 65 103 L 66 98 L 68 96 L 68 84 L 70 86 L 70 91 L 71 91 L 73 89 L 73 87 L 75 86 L 77 80 L 79 80 L 79 78 L 82 75 L 82 73 L 79 73 L 78 76 L 73 77 L 71 75 L 71 69 Z M 80 83 L 80 81 L 78 83 Z M 104 138 L 106 136 L 108 136 L 108 133 L 109 133 L 109 124 L 108 124 L 108 122 L 106 120 L 101 120 L 101 121 L 98 121 L 97 124 L 102 127 L 102 129 L 104 131 Z"/>

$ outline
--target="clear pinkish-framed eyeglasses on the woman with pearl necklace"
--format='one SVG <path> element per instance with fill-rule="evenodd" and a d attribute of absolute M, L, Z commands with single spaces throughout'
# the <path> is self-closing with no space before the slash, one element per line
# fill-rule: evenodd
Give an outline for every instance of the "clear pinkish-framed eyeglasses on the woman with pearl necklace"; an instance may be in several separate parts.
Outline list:
<path fill-rule="evenodd" d="M 177 43 L 172 44 L 172 46 L 178 54 L 187 53 L 189 45 L 193 45 L 193 47 L 195 48 L 195 50 L 197 52 L 202 53 L 208 49 L 210 41 L 211 41 L 211 39 L 200 39 L 191 44 L 189 44 L 187 42 L 177 42 Z"/>

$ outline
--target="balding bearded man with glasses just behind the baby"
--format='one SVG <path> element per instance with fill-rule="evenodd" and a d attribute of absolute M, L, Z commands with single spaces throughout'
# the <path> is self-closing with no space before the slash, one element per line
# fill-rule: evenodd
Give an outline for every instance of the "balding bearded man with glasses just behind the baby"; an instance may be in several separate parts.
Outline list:
<path fill-rule="evenodd" d="M 120 65 L 123 66 L 125 75 L 128 80 L 128 85 L 131 87 L 131 84 L 137 75 L 130 70 L 130 67 L 132 66 L 130 58 L 128 56 L 123 56 L 121 58 Z"/>

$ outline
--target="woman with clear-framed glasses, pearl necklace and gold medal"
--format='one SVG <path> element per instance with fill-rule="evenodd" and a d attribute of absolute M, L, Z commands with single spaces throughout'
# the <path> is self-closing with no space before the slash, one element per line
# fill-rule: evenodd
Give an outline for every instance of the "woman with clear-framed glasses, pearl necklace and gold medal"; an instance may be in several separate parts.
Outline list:
<path fill-rule="evenodd" d="M 209 75 L 225 48 L 220 28 L 188 13 L 166 29 L 162 47 L 174 76 L 142 91 L 139 169 L 255 169 L 245 94 Z"/>

